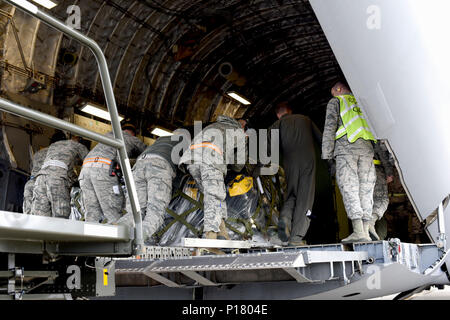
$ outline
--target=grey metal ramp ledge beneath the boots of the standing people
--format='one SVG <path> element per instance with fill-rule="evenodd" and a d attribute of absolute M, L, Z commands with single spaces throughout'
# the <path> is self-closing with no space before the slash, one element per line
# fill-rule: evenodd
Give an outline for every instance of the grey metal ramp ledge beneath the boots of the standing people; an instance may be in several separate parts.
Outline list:
<path fill-rule="evenodd" d="M 184 251 L 184 256 L 166 255 L 162 259 L 155 256 L 116 259 L 116 273 L 145 275 L 168 287 L 218 286 L 246 282 L 249 281 L 248 272 L 253 273 L 253 279 L 259 272 L 260 281 L 323 283 L 328 280 L 343 280 L 348 283 L 355 272 L 362 272 L 362 263 L 369 256 L 364 251 L 346 249 L 348 248 L 344 245 L 338 244 L 275 248 L 273 252 L 266 248 L 248 250 L 247 253 L 202 256 L 188 256 L 188 251 Z M 175 253 L 180 248 L 172 250 Z M 147 248 L 147 252 L 154 253 L 155 249 Z"/>

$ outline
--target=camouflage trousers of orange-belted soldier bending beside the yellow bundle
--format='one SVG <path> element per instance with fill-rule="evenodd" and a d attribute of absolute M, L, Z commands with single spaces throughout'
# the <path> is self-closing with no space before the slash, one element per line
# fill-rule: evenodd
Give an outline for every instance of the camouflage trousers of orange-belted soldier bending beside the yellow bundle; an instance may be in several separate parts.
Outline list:
<path fill-rule="evenodd" d="M 227 219 L 227 204 L 225 202 L 227 192 L 223 181 L 223 173 L 206 164 L 191 164 L 187 168 L 203 193 L 203 232 L 219 232 L 222 219 Z"/>

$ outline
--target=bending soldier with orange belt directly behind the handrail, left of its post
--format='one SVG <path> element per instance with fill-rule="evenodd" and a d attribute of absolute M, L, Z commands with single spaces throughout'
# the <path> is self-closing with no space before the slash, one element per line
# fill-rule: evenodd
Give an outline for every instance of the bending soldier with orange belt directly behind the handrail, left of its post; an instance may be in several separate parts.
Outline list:
<path fill-rule="evenodd" d="M 125 124 L 122 130 L 128 156 L 141 154 L 146 145 L 136 137 L 134 126 Z M 106 135 L 113 136 L 113 133 Z M 86 221 L 114 223 L 121 217 L 124 192 L 115 171 L 117 157 L 114 147 L 99 143 L 83 161 L 78 180 Z"/>

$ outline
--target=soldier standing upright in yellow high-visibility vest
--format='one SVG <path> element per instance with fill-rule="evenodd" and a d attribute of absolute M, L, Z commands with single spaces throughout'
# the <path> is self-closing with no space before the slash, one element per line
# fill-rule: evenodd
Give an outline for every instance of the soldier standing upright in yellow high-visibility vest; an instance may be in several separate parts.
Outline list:
<path fill-rule="evenodd" d="M 376 181 L 371 141 L 376 139 L 348 86 L 338 82 L 331 94 L 334 98 L 327 105 L 322 159 L 327 159 L 330 167 L 336 167 L 336 182 L 352 221 L 353 233 L 342 242 L 370 241 Z"/>

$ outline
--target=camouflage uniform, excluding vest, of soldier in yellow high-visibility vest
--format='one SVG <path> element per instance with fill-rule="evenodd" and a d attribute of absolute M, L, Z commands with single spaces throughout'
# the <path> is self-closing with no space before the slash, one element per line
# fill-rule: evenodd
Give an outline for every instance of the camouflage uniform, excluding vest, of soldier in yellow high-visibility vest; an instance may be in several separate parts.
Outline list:
<path fill-rule="evenodd" d="M 372 219 L 376 181 L 372 142 L 358 139 L 350 143 L 347 135 L 336 140 L 336 131 L 342 125 L 339 109 L 339 99 L 332 98 L 327 105 L 322 159 L 336 160 L 336 182 L 349 219 L 368 221 Z"/>

